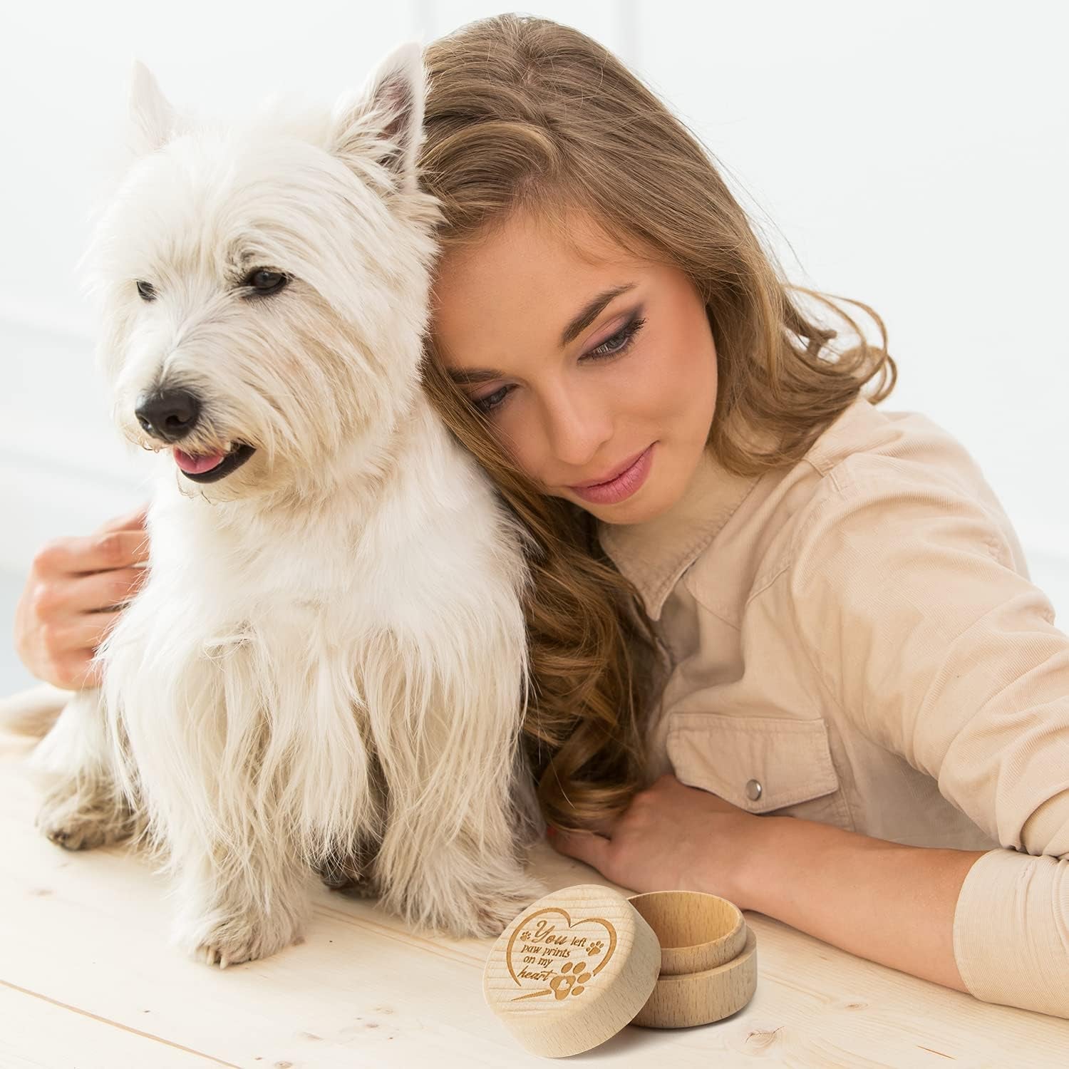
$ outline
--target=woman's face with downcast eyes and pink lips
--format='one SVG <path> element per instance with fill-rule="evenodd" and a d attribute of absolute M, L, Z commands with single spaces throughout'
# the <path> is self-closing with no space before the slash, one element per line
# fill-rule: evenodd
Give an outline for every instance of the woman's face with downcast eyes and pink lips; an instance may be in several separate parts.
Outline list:
<path fill-rule="evenodd" d="M 570 233 L 584 257 L 515 214 L 446 253 L 431 327 L 450 375 L 544 493 L 640 523 L 682 495 L 700 459 L 716 403 L 712 330 L 679 268 L 632 258 L 584 219 Z M 636 456 L 606 486 L 576 485 Z"/>

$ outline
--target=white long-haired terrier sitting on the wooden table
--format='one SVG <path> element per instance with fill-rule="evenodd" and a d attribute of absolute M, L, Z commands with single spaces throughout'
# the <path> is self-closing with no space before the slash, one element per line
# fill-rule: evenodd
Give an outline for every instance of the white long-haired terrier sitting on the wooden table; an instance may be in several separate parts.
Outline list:
<path fill-rule="evenodd" d="M 408 44 L 329 114 L 195 123 L 135 63 L 138 155 L 83 261 L 159 470 L 104 685 L 31 756 L 38 826 L 135 835 L 172 943 L 222 966 L 299 941 L 316 872 L 461 936 L 545 893 L 526 536 L 420 388 L 424 92 Z"/>

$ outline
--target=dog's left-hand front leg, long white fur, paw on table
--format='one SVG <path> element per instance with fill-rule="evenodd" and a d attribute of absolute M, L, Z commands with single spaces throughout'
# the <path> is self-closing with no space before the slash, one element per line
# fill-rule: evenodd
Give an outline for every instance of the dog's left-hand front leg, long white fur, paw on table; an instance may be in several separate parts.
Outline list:
<path fill-rule="evenodd" d="M 170 942 L 223 966 L 263 958 L 299 936 L 313 880 L 293 808 L 280 802 L 291 770 L 288 747 L 272 752 L 269 662 L 245 641 L 202 655 L 212 632 L 199 633 L 197 618 L 169 617 L 168 600 L 153 605 L 151 593 L 126 610 L 140 610 L 127 617 L 139 630 L 112 648 L 107 685 L 121 693 L 129 753 L 166 858 Z M 159 640 L 171 632 L 182 644 Z M 156 644 L 169 659 L 146 657 Z M 118 704 L 117 697 L 106 711 Z"/>

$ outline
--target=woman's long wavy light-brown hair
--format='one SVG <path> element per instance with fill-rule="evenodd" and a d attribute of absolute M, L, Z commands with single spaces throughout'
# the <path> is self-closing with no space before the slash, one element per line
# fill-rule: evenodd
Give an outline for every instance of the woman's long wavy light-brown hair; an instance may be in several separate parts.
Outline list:
<path fill-rule="evenodd" d="M 567 26 L 497 15 L 424 49 L 429 75 L 424 188 L 441 202 L 443 253 L 478 242 L 516 211 L 569 241 L 578 210 L 625 250 L 683 269 L 701 293 L 717 355 L 707 448 L 729 470 L 758 475 L 796 463 L 873 376 L 876 404 L 895 361 L 820 293 L 791 285 L 755 235 L 700 140 L 597 41 Z M 578 254 L 582 250 L 576 249 Z M 804 293 L 846 320 L 837 337 L 801 308 Z M 551 824 L 590 828 L 648 786 L 642 740 L 667 665 L 634 586 L 607 558 L 594 517 L 547 496 L 495 439 L 427 339 L 427 389 L 533 536 L 527 625 L 533 687 L 525 746 Z M 776 435 L 755 453 L 745 429 Z"/>

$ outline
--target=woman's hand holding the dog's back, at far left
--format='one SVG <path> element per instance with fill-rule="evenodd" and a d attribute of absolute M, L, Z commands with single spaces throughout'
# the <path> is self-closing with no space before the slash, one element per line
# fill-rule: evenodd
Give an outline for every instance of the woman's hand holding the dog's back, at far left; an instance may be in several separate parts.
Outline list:
<path fill-rule="evenodd" d="M 15 607 L 15 652 L 38 679 L 68 691 L 99 686 L 96 647 L 144 580 L 146 506 L 92 534 L 37 551 Z"/>

